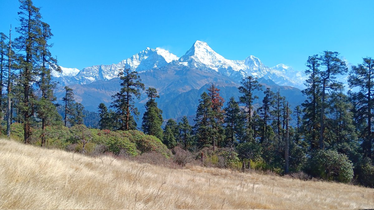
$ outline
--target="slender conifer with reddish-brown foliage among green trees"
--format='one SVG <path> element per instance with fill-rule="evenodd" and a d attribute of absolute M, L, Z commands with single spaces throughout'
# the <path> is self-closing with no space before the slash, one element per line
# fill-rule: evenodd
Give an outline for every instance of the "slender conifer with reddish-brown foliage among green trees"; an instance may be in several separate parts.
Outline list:
<path fill-rule="evenodd" d="M 212 144 L 213 150 L 217 144 L 220 147 L 221 142 L 224 139 L 224 129 L 223 129 L 223 120 L 224 120 L 224 110 L 222 110 L 224 100 L 220 96 L 220 89 L 215 87 L 214 84 L 211 84 L 208 88 L 208 95 L 212 101 Z M 217 141 L 217 142 L 216 142 Z"/>

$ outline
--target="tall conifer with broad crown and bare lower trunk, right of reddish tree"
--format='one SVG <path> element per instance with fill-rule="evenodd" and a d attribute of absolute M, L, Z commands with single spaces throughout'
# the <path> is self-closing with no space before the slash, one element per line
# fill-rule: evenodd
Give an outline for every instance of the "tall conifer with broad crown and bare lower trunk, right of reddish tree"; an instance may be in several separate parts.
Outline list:
<path fill-rule="evenodd" d="M 261 91 L 262 85 L 253 76 L 248 76 L 244 78 L 241 82 L 239 93 L 243 94 L 239 97 L 239 101 L 242 104 L 245 104 L 245 113 L 246 113 L 246 138 L 247 141 L 252 141 L 255 138 L 252 122 L 252 109 L 254 100 L 258 99 L 257 95 L 254 95 L 254 91 Z"/>

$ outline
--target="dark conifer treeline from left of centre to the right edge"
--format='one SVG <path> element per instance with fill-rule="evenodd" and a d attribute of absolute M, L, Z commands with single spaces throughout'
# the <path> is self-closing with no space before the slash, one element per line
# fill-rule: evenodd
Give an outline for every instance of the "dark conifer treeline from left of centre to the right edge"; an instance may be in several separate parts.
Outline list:
<path fill-rule="evenodd" d="M 372 186 L 373 166 L 373 77 L 374 60 L 367 57 L 349 72 L 349 91 L 336 81 L 348 68 L 337 52 L 324 51 L 307 60 L 309 75 L 304 103 L 291 110 L 287 98 L 270 88 L 264 90 L 260 105 L 254 104 L 263 90 L 252 77 L 244 78 L 238 100 L 231 97 L 224 104 L 220 90 L 211 84 L 200 95 L 199 105 L 190 125 L 187 116 L 181 122 L 169 119 L 162 130 L 162 110 L 157 107 L 156 89 L 145 92 L 148 101 L 141 129 L 161 139 L 169 148 L 189 151 L 212 150 L 229 164 L 242 168 L 273 170 L 277 173 L 303 171 L 313 177 Z M 111 110 L 99 105 L 99 128 L 136 129 L 139 113 L 134 106 L 144 84 L 137 72 L 125 69 L 120 74 L 121 91 L 113 95 Z M 353 91 L 357 90 L 357 91 Z M 257 109 L 254 105 L 259 106 Z M 289 126 L 293 119 L 295 126 Z M 207 148 L 209 148 L 207 150 Z M 215 152 L 217 150 L 217 152 Z M 208 153 L 211 154 L 212 151 Z M 224 151 L 224 152 L 223 152 Z M 223 155 L 223 153 L 226 153 Z"/>

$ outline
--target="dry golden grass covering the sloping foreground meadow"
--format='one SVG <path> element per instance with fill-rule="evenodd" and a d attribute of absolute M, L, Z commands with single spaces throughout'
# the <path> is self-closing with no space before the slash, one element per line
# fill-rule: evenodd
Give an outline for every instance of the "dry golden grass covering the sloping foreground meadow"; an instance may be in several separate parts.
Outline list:
<path fill-rule="evenodd" d="M 374 189 L 169 169 L 0 140 L 0 209 L 365 209 Z"/>

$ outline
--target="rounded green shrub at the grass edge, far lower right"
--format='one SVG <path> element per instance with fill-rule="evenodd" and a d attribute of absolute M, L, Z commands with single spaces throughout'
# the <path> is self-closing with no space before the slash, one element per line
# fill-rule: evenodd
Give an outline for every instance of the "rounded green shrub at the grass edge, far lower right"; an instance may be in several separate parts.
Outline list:
<path fill-rule="evenodd" d="M 353 165 L 348 157 L 333 150 L 318 150 L 310 160 L 311 173 L 322 179 L 348 183 L 353 178 Z"/>

